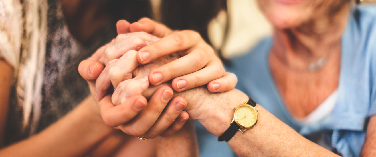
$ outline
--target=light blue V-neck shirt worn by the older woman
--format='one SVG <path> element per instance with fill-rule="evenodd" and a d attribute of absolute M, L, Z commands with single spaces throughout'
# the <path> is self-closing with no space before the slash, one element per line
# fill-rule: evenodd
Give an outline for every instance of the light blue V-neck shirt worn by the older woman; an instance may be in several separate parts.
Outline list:
<path fill-rule="evenodd" d="M 360 156 L 367 120 L 376 114 L 376 6 L 358 5 L 350 13 L 341 38 L 338 99 L 323 120 L 302 124 L 288 113 L 267 62 L 272 43 L 267 37 L 246 55 L 231 60 L 227 70 L 238 76 L 236 88 L 301 135 L 323 133 L 334 153 Z M 202 157 L 236 156 L 199 123 L 196 128 Z"/>

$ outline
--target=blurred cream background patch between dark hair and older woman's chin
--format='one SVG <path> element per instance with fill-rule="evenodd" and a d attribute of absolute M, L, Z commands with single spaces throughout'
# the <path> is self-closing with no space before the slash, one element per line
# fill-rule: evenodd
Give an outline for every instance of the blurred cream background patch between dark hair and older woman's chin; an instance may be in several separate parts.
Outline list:
<path fill-rule="evenodd" d="M 256 1 L 227 1 L 229 31 L 224 47 L 224 57 L 234 57 L 249 51 L 259 40 L 271 34 L 272 28 L 260 12 Z M 208 34 L 217 49 L 223 38 L 226 14 L 221 12 L 209 23 Z"/>

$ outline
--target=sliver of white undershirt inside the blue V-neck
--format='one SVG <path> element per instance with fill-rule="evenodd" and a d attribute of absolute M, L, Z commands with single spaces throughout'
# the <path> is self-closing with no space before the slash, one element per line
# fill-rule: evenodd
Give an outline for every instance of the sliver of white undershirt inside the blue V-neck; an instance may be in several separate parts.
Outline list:
<path fill-rule="evenodd" d="M 338 91 L 337 89 L 333 91 L 320 105 L 317 106 L 311 113 L 309 113 L 304 118 L 296 118 L 302 124 L 309 124 L 315 121 L 319 121 L 322 118 L 329 115 L 337 102 Z"/>

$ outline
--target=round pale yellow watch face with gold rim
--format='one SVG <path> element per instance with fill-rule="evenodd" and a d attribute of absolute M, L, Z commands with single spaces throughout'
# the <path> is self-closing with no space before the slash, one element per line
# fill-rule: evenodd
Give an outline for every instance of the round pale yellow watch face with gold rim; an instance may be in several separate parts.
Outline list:
<path fill-rule="evenodd" d="M 243 127 L 251 127 L 257 121 L 257 113 L 249 105 L 243 105 L 235 110 L 234 118 Z"/>

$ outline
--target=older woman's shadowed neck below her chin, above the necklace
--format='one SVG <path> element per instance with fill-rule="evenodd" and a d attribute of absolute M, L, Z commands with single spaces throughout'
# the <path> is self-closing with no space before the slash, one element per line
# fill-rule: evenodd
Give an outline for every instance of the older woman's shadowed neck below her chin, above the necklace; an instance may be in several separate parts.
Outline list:
<path fill-rule="evenodd" d="M 284 58 L 312 61 L 340 51 L 341 35 L 349 16 L 349 4 L 336 13 L 316 17 L 299 27 L 275 30 L 273 49 Z"/>

